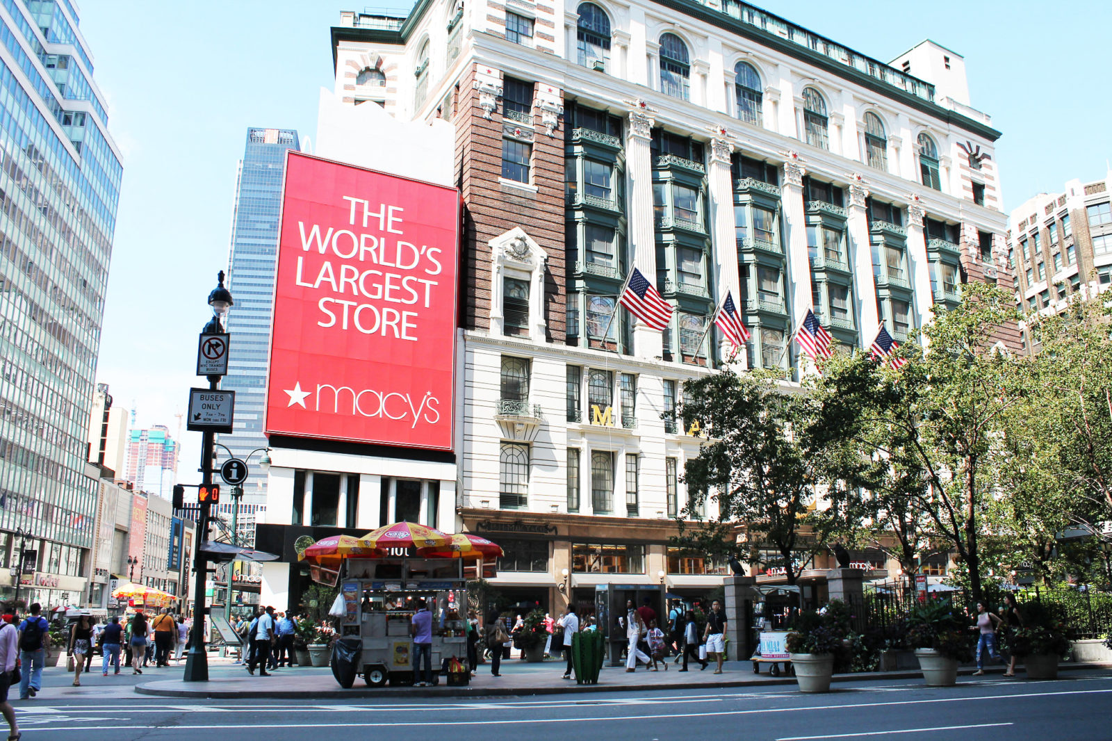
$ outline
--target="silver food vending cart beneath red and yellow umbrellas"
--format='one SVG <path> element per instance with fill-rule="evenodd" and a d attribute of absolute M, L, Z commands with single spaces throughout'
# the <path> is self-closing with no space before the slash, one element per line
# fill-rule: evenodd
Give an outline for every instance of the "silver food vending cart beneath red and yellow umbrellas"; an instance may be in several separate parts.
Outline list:
<path fill-rule="evenodd" d="M 370 686 L 414 683 L 409 625 L 420 600 L 433 613 L 433 683 L 445 660 L 467 661 L 467 582 L 461 559 L 348 559 L 339 580 L 340 634 L 359 638 Z"/>

